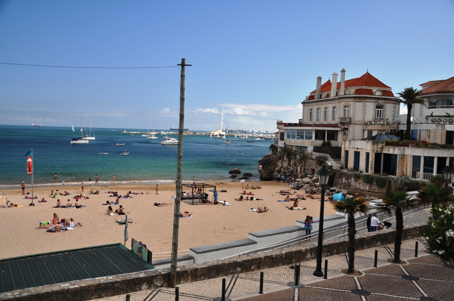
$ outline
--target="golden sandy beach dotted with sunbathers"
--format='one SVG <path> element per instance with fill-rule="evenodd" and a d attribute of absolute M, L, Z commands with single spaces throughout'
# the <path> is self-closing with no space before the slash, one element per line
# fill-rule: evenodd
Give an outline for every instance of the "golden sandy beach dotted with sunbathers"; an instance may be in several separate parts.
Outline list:
<path fill-rule="evenodd" d="M 199 182 L 196 182 L 199 183 Z M 242 185 L 239 182 L 205 182 L 215 185 L 219 192 L 219 201 L 228 201 L 231 206 L 220 204 L 190 205 L 181 203 L 181 211 L 189 211 L 192 217 L 180 218 L 179 250 L 210 245 L 233 240 L 248 238 L 249 232 L 262 231 L 280 227 L 295 225 L 297 219 L 304 219 L 306 215 L 316 217 L 319 215 L 320 200 L 307 199 L 300 201 L 300 207 L 307 210 L 292 211 L 285 209 L 293 202 L 278 202 L 284 196 L 275 191 L 290 189 L 290 186 L 280 182 L 246 182 L 252 185 L 260 185 L 261 189 L 250 190 L 254 197 L 262 198 L 259 201 L 235 201 L 240 196 Z M 75 194 L 81 193 L 81 187 L 76 186 L 53 186 L 35 187 L 34 195 L 38 199 L 45 198 L 47 203 L 38 203 L 37 206 L 29 206 L 31 200 L 23 198 L 21 189 L 3 189 L 2 204 L 0 204 L 0 220 L 2 220 L 2 252 L 0 258 L 10 258 L 30 254 L 39 254 L 51 251 L 68 250 L 81 247 L 90 247 L 112 243 L 124 242 L 124 225 L 115 222 L 116 218 L 124 218 L 124 215 L 106 215 L 107 207 L 103 202 L 115 201 L 115 197 L 109 197 L 107 191 L 118 191 L 125 195 L 128 191 L 143 192 L 144 194 L 133 195 L 133 198 L 122 198 L 120 204 L 125 207 L 125 212 L 133 220 L 130 224 L 129 237 L 126 243 L 131 245 L 131 238 L 144 242 L 153 253 L 171 252 L 172 232 L 175 199 L 174 184 L 159 184 L 159 194 L 155 194 L 156 185 L 109 185 L 109 186 L 88 186 L 84 188 L 84 196 L 90 199 L 81 201 L 86 207 L 75 208 L 54 208 L 56 198 L 51 198 L 49 192 L 59 189 L 69 191 L 72 196 L 59 197 L 62 204 L 67 203 L 68 197 L 73 199 Z M 89 195 L 90 189 L 99 189 L 99 195 Z M 187 192 L 188 189 L 184 187 Z M 31 192 L 30 185 L 27 185 L 26 192 Z M 148 192 L 148 194 L 146 194 Z M 305 194 L 303 190 L 296 191 L 297 194 Z M 3 197 L 11 202 L 23 205 L 23 207 L 7 208 L 3 203 Z M 291 196 L 293 197 L 293 196 Z M 209 195 L 212 199 L 212 193 Z M 168 207 L 155 207 L 153 204 L 171 203 Z M 198 201 L 195 201 L 197 204 Z M 249 211 L 250 208 L 266 206 L 269 212 L 257 213 Z M 119 205 L 112 205 L 113 210 Z M 53 213 L 60 218 L 74 218 L 80 222 L 82 227 L 75 227 L 74 230 L 62 234 L 47 233 L 38 230 L 39 221 L 51 220 Z M 325 215 L 334 214 L 334 209 L 329 203 L 325 203 Z"/>

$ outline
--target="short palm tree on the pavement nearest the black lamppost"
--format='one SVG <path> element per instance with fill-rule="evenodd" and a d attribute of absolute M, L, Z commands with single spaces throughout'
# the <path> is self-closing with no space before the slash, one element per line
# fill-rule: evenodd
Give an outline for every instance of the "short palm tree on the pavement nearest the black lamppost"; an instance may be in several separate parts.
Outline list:
<path fill-rule="evenodd" d="M 334 203 L 334 209 L 339 213 L 348 215 L 349 225 L 349 269 L 347 274 L 353 274 L 355 272 L 355 215 L 357 213 L 366 214 L 369 211 L 367 200 L 364 198 L 349 197 L 342 201 Z"/>

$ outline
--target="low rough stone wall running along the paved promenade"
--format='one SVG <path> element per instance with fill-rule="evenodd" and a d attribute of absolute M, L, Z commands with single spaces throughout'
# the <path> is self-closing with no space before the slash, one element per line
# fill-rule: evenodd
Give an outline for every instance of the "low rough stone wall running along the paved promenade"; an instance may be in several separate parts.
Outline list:
<path fill-rule="evenodd" d="M 423 236 L 426 223 L 406 225 L 402 240 Z M 394 242 L 395 229 L 356 235 L 355 249 L 364 250 Z M 323 257 L 347 252 L 348 238 L 325 241 Z M 216 260 L 177 269 L 177 283 L 189 283 L 316 259 L 317 244 L 283 248 L 239 258 Z M 18 301 L 82 301 L 166 286 L 169 269 L 149 270 L 130 274 L 71 281 L 0 293 L 0 300 Z"/>

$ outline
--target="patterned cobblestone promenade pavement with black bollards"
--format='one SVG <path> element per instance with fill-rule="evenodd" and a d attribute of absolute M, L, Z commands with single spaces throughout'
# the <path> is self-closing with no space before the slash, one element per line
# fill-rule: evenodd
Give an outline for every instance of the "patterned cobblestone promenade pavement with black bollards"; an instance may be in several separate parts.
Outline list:
<path fill-rule="evenodd" d="M 415 255 L 415 243 L 418 254 Z M 377 268 L 374 253 L 378 250 Z M 433 255 L 426 254 L 425 240 L 419 238 L 404 241 L 401 258 L 407 265 L 394 265 L 386 261 L 393 256 L 393 244 L 355 252 L 355 269 L 365 275 L 352 277 L 339 270 L 348 267 L 348 255 L 328 258 L 328 279 L 312 275 L 316 262 L 301 262 L 301 276 L 298 287 L 295 284 L 294 269 L 282 266 L 262 270 L 264 272 L 264 294 L 258 294 L 260 272 L 236 274 L 226 279 L 226 300 L 453 300 L 454 269 L 445 267 Z M 179 285 L 179 300 L 220 300 L 222 278 Z M 131 301 L 175 300 L 175 289 L 154 288 L 130 293 Z M 126 294 L 97 299 L 98 301 L 123 301 Z"/>

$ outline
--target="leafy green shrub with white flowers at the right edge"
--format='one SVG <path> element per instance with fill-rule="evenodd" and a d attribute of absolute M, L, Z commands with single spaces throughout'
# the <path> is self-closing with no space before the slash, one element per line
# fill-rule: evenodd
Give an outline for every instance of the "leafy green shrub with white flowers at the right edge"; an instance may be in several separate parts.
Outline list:
<path fill-rule="evenodd" d="M 445 264 L 454 264 L 454 208 L 442 209 L 436 205 L 430 211 L 427 222 L 429 227 L 424 230 L 428 250 Z"/>

